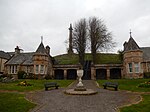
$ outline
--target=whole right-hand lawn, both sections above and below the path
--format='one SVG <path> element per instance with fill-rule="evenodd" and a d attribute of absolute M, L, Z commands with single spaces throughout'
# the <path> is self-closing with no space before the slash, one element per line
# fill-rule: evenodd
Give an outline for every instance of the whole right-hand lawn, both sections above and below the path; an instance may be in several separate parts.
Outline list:
<path fill-rule="evenodd" d="M 128 90 L 132 92 L 150 92 L 150 88 L 138 87 L 140 83 L 150 81 L 150 79 L 118 79 L 109 80 L 110 82 L 118 82 L 119 90 Z M 102 87 L 104 82 L 108 80 L 98 80 L 99 85 Z M 149 112 L 150 111 L 150 94 L 142 95 L 143 101 L 139 104 L 134 104 L 129 107 L 123 107 L 120 109 L 121 112 Z"/>

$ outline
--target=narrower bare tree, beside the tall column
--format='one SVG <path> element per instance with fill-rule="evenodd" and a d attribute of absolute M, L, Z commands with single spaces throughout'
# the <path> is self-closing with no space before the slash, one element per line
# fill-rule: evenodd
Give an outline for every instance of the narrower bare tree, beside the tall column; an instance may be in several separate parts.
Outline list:
<path fill-rule="evenodd" d="M 86 19 L 80 19 L 74 27 L 73 30 L 73 48 L 76 49 L 79 54 L 79 62 L 83 66 L 85 49 L 86 49 L 86 40 L 87 40 L 87 22 Z"/>

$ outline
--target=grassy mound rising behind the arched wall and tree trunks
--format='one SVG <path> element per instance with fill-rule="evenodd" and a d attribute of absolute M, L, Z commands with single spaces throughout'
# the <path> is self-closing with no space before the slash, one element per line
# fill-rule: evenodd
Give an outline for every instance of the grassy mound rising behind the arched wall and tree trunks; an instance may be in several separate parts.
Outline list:
<path fill-rule="evenodd" d="M 55 60 L 62 65 L 67 64 L 79 64 L 79 57 L 77 54 L 63 54 L 54 57 Z M 92 55 L 86 53 L 85 60 L 92 60 Z M 122 61 L 119 54 L 109 54 L 109 53 L 98 53 L 96 57 L 96 64 L 121 64 Z"/>

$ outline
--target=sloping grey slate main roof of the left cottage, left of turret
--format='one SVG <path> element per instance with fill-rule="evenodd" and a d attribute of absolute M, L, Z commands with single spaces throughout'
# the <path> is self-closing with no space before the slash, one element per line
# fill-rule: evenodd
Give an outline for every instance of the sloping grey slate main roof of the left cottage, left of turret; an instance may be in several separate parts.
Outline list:
<path fill-rule="evenodd" d="M 9 64 L 32 65 L 33 64 L 33 60 L 32 60 L 33 55 L 34 55 L 34 52 L 20 53 L 18 55 L 14 55 L 10 60 L 7 61 L 6 65 L 9 65 Z"/>

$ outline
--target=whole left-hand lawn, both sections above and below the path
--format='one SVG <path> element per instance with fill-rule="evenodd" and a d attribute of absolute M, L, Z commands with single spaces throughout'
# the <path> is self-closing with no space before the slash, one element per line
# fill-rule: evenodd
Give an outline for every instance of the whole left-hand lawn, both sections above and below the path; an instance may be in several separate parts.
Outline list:
<path fill-rule="evenodd" d="M 32 86 L 18 86 L 22 81 L 27 81 Z M 11 93 L 11 91 L 28 92 L 44 89 L 45 82 L 57 82 L 60 87 L 67 87 L 74 80 L 18 80 L 9 83 L 0 83 L 0 90 L 9 93 L 0 93 L 0 112 L 28 112 L 35 104 L 27 101 L 24 94 Z"/>

